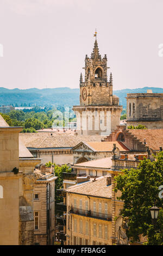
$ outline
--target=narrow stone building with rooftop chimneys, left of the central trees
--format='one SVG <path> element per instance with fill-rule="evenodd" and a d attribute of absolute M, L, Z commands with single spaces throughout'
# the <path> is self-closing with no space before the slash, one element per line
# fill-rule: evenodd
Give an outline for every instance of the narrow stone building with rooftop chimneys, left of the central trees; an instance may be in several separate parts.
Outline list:
<path fill-rule="evenodd" d="M 34 170 L 34 244 L 54 245 L 55 177 L 51 168 Z"/>

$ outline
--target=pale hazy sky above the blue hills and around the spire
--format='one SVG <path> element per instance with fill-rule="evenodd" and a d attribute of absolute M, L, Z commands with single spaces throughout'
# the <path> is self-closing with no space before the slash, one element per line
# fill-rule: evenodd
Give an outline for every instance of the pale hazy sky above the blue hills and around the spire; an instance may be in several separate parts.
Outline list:
<path fill-rule="evenodd" d="M 162 0 L 0 0 L 0 87 L 79 88 L 97 28 L 114 90 L 163 87 Z"/>

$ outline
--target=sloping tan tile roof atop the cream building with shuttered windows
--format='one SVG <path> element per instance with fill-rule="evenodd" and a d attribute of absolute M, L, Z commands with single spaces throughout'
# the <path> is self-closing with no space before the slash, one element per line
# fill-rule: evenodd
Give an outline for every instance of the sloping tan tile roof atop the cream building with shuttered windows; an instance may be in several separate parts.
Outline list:
<path fill-rule="evenodd" d="M 77 184 L 66 188 L 70 193 L 85 194 L 94 197 L 104 197 L 111 199 L 112 185 L 106 186 L 106 178 L 110 175 L 102 176 L 96 181 L 87 181 L 83 184 Z"/>

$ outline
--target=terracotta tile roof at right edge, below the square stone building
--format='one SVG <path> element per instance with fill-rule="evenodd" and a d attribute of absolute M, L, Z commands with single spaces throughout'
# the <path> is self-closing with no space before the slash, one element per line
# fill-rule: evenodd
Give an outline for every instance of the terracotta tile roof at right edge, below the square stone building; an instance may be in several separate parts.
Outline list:
<path fill-rule="evenodd" d="M 163 147 L 163 129 L 147 129 L 147 130 L 128 130 L 135 137 L 144 142 L 146 139 L 147 146 L 153 150 L 160 150 Z"/>

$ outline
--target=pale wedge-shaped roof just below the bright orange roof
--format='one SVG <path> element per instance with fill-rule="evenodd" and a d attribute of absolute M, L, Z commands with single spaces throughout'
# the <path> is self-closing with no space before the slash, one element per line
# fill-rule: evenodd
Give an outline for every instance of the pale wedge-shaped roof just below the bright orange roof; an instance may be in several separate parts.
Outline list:
<path fill-rule="evenodd" d="M 110 168 L 112 164 L 111 157 L 105 157 L 103 159 L 97 159 L 92 161 L 87 161 L 83 163 L 76 163 L 74 166 L 79 167 L 95 167 L 95 168 Z"/>

